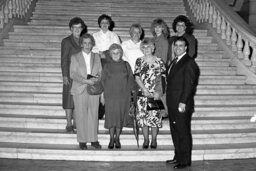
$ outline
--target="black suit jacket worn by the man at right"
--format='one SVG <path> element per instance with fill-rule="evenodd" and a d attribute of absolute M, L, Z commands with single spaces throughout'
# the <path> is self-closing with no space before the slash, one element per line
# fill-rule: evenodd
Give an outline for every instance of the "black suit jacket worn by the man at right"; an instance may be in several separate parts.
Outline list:
<path fill-rule="evenodd" d="M 169 108 L 178 109 L 180 102 L 186 104 L 186 110 L 194 107 L 198 76 L 196 62 L 185 54 L 167 75 L 166 102 Z"/>

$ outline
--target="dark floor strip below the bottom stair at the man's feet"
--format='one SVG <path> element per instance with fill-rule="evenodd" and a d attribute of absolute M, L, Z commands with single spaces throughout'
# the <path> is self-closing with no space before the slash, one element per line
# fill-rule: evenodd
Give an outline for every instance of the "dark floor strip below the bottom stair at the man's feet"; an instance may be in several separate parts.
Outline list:
<path fill-rule="evenodd" d="M 0 171 L 174 171 L 165 162 L 81 162 L 0 159 Z M 256 171 L 256 158 L 194 161 L 187 171 Z"/>

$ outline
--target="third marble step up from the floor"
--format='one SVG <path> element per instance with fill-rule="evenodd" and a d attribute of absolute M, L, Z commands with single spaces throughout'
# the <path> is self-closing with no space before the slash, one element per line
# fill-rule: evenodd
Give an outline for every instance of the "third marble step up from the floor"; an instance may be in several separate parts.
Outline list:
<path fill-rule="evenodd" d="M 8 118 L 0 117 L 0 129 L 2 128 L 29 128 L 29 129 L 56 129 L 64 130 L 66 126 L 65 119 L 47 119 L 47 118 Z M 240 130 L 240 129 L 256 129 L 255 123 L 249 119 L 237 120 L 194 120 L 191 121 L 191 129 L 193 131 L 206 130 Z M 99 120 L 99 132 L 106 132 L 104 128 L 104 120 Z M 132 128 L 123 128 L 123 132 L 132 132 Z M 169 121 L 163 120 L 161 132 L 169 132 Z"/>

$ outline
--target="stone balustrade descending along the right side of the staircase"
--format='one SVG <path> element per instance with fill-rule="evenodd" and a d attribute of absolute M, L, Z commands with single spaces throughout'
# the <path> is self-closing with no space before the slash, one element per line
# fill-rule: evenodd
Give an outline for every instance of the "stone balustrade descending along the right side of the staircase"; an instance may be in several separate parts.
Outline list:
<path fill-rule="evenodd" d="M 230 46 L 238 59 L 256 73 L 255 33 L 222 0 L 187 0 L 199 23 L 209 23 Z"/>

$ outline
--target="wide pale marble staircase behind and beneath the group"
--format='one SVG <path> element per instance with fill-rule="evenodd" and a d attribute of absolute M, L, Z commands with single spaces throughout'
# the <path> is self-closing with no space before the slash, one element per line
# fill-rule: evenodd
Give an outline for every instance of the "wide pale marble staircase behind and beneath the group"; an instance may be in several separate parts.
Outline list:
<path fill-rule="evenodd" d="M 86 2 L 86 3 L 85 3 Z M 112 16 L 114 31 L 129 38 L 129 26 L 139 22 L 146 37 L 150 25 L 162 17 L 186 14 L 179 0 L 38 0 L 31 22 L 15 25 L 0 47 L 0 158 L 165 161 L 173 156 L 169 123 L 163 121 L 156 150 L 137 148 L 131 128 L 124 128 L 122 149 L 108 150 L 108 131 L 99 121 L 101 150 L 79 150 L 75 134 L 65 132 L 61 107 L 60 42 L 70 34 L 68 22 L 83 18 L 89 33 L 98 30 L 97 18 Z M 246 85 L 231 57 L 225 55 L 207 29 L 197 27 L 200 79 L 192 120 L 193 160 L 256 157 L 256 85 Z M 143 142 L 140 134 L 140 144 Z"/>

